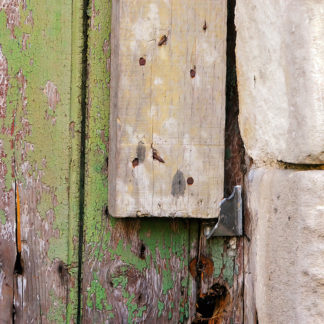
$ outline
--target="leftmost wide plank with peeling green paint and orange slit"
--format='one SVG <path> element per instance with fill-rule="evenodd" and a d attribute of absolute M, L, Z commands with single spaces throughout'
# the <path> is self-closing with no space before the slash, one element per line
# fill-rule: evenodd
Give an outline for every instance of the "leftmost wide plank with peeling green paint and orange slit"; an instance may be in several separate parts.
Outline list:
<path fill-rule="evenodd" d="M 78 183 L 76 98 L 71 93 L 71 1 L 0 4 L 0 321 L 73 322 Z M 77 30 L 73 27 L 73 33 Z M 80 50 L 78 48 L 78 50 Z M 79 81 L 78 81 L 79 82 Z M 75 84 L 74 86 L 77 86 Z M 73 151 L 73 152 L 72 152 Z M 78 165 L 79 166 L 79 165 Z M 21 267 L 15 267 L 15 183 Z M 15 271 L 15 273 L 14 273 Z M 3 310 L 3 311 L 2 311 Z M 13 314 L 14 313 L 14 314 Z"/>

